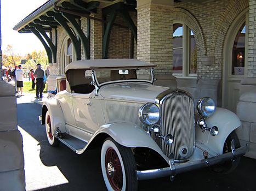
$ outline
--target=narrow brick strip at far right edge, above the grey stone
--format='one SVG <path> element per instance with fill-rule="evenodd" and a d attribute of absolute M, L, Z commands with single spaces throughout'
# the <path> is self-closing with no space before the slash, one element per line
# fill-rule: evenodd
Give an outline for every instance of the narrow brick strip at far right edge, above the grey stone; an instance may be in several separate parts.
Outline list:
<path fill-rule="evenodd" d="M 256 2 L 249 0 L 248 77 L 256 77 Z"/>

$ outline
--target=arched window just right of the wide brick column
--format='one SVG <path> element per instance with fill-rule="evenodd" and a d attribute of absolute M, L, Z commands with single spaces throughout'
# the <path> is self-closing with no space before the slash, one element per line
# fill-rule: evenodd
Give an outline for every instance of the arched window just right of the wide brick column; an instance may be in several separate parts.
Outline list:
<path fill-rule="evenodd" d="M 173 75 L 196 76 L 197 49 L 194 33 L 184 23 L 173 25 Z"/>

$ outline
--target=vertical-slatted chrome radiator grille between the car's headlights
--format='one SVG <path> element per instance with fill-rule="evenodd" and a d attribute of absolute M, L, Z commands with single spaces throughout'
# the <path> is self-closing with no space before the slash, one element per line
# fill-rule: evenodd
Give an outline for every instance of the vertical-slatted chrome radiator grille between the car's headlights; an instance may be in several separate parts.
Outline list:
<path fill-rule="evenodd" d="M 162 135 L 172 134 L 172 145 L 162 141 L 162 150 L 167 157 L 174 154 L 175 160 L 189 158 L 194 151 L 195 119 L 194 101 L 183 92 L 174 92 L 161 102 Z M 185 154 L 184 154 L 185 153 Z"/>

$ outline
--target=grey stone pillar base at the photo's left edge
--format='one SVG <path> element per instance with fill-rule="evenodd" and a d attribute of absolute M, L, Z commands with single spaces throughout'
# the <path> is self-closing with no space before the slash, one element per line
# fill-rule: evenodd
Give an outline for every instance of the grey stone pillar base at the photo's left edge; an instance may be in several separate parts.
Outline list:
<path fill-rule="evenodd" d="M 0 80 L 0 190 L 25 190 L 22 136 L 17 126 L 15 87 Z"/>

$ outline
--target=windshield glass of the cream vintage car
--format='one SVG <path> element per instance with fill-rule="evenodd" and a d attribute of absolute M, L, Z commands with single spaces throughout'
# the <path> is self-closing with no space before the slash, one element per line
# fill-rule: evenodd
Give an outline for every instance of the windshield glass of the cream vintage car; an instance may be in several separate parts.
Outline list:
<path fill-rule="evenodd" d="M 150 68 L 143 69 L 96 69 L 96 81 L 99 85 L 113 81 L 146 81 L 152 82 Z"/>

